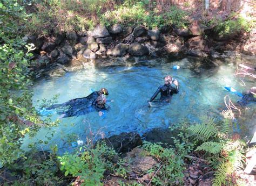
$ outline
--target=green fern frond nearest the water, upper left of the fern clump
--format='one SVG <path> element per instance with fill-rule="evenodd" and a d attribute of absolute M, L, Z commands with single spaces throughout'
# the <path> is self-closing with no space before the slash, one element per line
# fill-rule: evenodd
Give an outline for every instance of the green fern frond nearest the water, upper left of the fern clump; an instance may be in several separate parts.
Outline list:
<path fill-rule="evenodd" d="M 216 137 L 218 134 L 217 125 L 214 123 L 196 124 L 188 127 L 188 130 L 200 141 L 207 141 L 210 137 Z"/>

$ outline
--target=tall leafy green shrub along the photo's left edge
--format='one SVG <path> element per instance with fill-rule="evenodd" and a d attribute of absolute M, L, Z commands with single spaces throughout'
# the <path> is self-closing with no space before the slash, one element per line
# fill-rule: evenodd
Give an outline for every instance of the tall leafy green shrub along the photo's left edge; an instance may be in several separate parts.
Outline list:
<path fill-rule="evenodd" d="M 42 126 L 55 123 L 42 121 L 32 106 L 28 67 L 33 45 L 26 45 L 21 38 L 28 18 L 24 7 L 15 0 L 6 0 L 1 1 L 0 11 L 0 164 L 3 165 L 24 156 L 20 147 L 25 135 L 31 137 Z"/>

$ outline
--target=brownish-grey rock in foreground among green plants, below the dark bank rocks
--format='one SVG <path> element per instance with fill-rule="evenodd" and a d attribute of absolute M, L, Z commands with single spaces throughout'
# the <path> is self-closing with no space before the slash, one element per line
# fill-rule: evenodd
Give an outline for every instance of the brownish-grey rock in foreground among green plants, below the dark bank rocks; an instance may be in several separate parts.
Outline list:
<path fill-rule="evenodd" d="M 125 154 L 124 161 L 130 162 L 130 169 L 134 173 L 146 173 L 148 170 L 159 163 L 152 156 L 147 155 L 147 152 L 141 148 L 134 148 L 131 152 Z"/>

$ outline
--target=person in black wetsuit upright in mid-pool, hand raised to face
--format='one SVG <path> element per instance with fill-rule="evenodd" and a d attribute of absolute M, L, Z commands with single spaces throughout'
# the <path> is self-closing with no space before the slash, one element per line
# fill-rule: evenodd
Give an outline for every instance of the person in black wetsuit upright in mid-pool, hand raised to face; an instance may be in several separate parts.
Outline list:
<path fill-rule="evenodd" d="M 174 80 L 171 76 L 166 76 L 164 78 L 164 85 L 161 85 L 160 87 L 158 87 L 157 91 L 154 92 L 154 95 L 151 97 L 150 102 L 152 102 L 154 100 L 154 98 L 157 97 L 157 95 L 160 93 L 161 97 L 160 100 L 163 101 L 167 101 L 169 102 L 169 99 L 172 97 L 173 94 L 178 94 L 179 92 L 179 83 L 177 80 Z M 176 87 L 172 87 L 171 84 L 174 84 Z"/>

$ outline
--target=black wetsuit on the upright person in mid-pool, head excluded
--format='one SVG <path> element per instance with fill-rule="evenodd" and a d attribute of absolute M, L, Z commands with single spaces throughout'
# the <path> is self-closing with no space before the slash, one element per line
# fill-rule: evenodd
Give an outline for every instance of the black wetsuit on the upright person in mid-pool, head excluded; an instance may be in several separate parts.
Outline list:
<path fill-rule="evenodd" d="M 179 92 L 179 87 L 176 86 L 175 88 L 172 87 L 171 84 L 164 84 L 158 87 L 157 91 L 154 92 L 154 95 L 151 97 L 150 102 L 154 100 L 154 98 L 157 97 L 157 95 L 161 94 L 160 100 L 164 100 L 166 98 L 170 98 L 173 94 L 177 94 Z"/>

